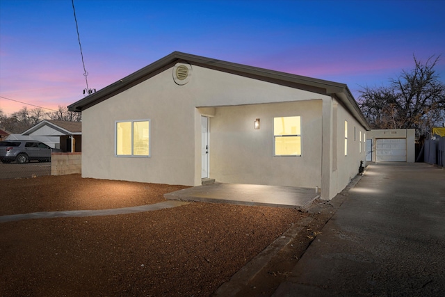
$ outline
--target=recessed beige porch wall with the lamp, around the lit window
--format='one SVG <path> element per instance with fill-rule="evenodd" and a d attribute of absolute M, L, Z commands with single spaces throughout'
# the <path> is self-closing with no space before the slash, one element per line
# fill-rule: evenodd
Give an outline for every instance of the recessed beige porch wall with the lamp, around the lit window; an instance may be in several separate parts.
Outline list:
<path fill-rule="evenodd" d="M 293 115 L 301 117 L 302 155 L 273 156 L 273 118 Z M 218 182 L 321 187 L 320 99 L 218 107 L 210 134 L 210 177 Z"/>

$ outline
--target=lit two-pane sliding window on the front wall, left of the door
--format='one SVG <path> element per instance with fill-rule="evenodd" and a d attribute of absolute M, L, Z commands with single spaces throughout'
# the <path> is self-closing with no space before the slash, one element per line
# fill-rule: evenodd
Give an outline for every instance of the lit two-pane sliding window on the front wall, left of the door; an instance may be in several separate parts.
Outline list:
<path fill-rule="evenodd" d="M 149 156 L 149 120 L 116 122 L 116 155 Z"/>

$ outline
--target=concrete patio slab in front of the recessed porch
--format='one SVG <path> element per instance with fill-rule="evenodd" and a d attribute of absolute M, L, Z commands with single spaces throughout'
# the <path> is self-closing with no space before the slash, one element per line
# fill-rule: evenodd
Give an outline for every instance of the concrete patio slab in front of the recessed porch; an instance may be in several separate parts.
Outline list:
<path fill-rule="evenodd" d="M 305 209 L 320 194 L 315 188 L 257 184 L 210 184 L 164 194 L 168 200 Z"/>

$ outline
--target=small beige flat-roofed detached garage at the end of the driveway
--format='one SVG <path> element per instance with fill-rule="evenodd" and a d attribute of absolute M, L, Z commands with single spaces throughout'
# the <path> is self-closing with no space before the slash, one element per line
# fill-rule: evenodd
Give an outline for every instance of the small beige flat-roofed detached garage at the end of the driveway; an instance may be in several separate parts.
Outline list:
<path fill-rule="evenodd" d="M 366 138 L 366 161 L 411 163 L 416 159 L 416 129 L 376 129 Z"/>

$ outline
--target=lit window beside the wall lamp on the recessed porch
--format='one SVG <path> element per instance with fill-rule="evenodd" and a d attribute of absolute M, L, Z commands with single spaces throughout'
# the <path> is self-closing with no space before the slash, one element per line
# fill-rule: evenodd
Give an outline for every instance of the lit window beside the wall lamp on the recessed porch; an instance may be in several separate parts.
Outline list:
<path fill-rule="evenodd" d="M 274 156 L 301 156 L 300 116 L 273 118 Z"/>

